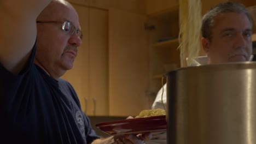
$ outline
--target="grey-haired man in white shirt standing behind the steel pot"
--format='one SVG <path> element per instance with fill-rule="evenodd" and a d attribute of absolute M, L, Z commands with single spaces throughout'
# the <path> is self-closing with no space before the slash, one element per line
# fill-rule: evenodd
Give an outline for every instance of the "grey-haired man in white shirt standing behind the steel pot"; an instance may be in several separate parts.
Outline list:
<path fill-rule="evenodd" d="M 201 44 L 207 56 L 194 58 L 189 66 L 251 61 L 252 27 L 252 19 L 241 3 L 216 5 L 202 19 Z M 166 84 L 162 88 L 156 95 L 152 109 L 166 107 Z M 166 140 L 166 133 L 153 133 L 147 144 L 166 143 Z"/>

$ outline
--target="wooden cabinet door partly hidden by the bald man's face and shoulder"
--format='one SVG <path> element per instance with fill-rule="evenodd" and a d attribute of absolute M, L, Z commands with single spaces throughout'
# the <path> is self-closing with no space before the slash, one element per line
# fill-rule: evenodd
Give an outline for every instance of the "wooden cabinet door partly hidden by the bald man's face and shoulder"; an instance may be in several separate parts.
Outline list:
<path fill-rule="evenodd" d="M 83 43 L 78 47 L 78 56 L 75 58 L 72 70 L 68 70 L 62 79 L 71 83 L 78 94 L 82 110 L 86 112 L 85 98 L 88 97 L 88 65 L 89 65 L 89 9 L 72 4 L 79 15 L 79 23 L 84 34 Z M 88 108 L 87 108 L 88 109 Z"/>

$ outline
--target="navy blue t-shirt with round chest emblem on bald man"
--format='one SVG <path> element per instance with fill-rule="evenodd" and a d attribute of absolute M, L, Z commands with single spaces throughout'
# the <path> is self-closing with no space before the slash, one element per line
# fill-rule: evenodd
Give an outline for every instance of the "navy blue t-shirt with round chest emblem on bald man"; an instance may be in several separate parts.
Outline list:
<path fill-rule="evenodd" d="M 0 64 L 0 143 L 90 143 L 99 137 L 73 87 L 33 63 L 10 73 Z"/>

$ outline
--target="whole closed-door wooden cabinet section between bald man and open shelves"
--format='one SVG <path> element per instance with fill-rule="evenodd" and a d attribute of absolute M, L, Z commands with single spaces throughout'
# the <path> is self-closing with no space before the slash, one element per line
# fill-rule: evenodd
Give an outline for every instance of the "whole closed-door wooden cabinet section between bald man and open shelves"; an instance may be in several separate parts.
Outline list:
<path fill-rule="evenodd" d="M 143 8 L 137 7 L 142 1 L 70 2 L 84 39 L 74 68 L 62 78 L 74 86 L 83 111 L 89 116 L 136 116 L 149 109 L 147 16 L 138 14 Z"/>

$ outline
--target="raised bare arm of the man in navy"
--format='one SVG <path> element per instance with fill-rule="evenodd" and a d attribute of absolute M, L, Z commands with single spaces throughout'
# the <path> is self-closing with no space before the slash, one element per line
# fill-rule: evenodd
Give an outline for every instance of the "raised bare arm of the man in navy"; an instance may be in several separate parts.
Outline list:
<path fill-rule="evenodd" d="M 0 63 L 14 74 L 36 41 L 36 18 L 51 0 L 0 0 Z"/>

